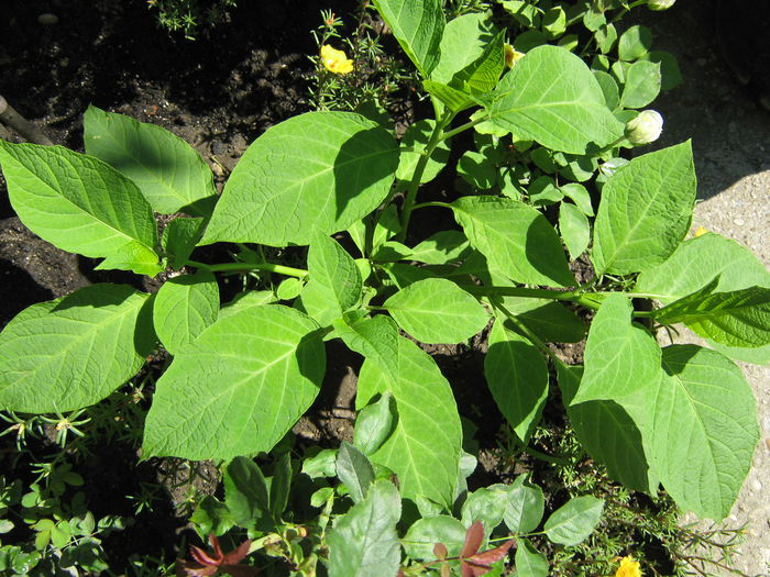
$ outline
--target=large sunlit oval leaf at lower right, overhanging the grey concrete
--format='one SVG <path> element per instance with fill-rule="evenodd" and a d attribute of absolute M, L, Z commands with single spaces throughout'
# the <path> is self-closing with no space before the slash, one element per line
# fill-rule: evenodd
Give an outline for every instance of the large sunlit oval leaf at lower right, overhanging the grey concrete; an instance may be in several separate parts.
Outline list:
<path fill-rule="evenodd" d="M 657 471 L 676 503 L 701 517 L 729 514 L 759 440 L 757 403 L 740 369 L 695 345 L 663 348 L 654 402 Z"/>

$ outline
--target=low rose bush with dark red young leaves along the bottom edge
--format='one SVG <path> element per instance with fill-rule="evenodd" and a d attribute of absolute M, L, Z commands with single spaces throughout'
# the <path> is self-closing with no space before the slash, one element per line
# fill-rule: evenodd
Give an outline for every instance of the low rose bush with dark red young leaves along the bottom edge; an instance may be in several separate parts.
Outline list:
<path fill-rule="evenodd" d="M 540 535 L 551 543 L 574 546 L 600 520 L 604 501 L 581 496 L 551 512 L 543 530 L 536 532 L 544 511 L 541 489 L 520 476 L 513 485 L 469 492 L 464 481 L 475 458 L 468 454 L 453 491 L 454 515 L 428 499 L 418 499 L 418 511 L 409 513 L 393 482 L 393 471 L 372 464 L 362 451 L 374 450 L 372 439 L 385 436 L 388 428 L 386 421 L 370 421 L 365 433 L 356 432 L 355 445 L 342 443 L 339 451 L 307 455 L 301 466 L 284 453 L 272 464 L 270 476 L 246 457 L 232 459 L 224 471 L 224 501 L 206 497 L 191 518 L 201 537 L 208 535 L 219 553 L 206 557 L 202 550 L 193 547 L 193 559 L 178 562 L 180 574 L 233 565 L 246 553 L 257 553 L 261 575 L 285 575 L 288 567 L 292 575 L 315 576 L 319 563 L 331 575 L 426 575 L 435 570 L 444 575 L 450 568 L 471 575 L 471 567 L 476 572 L 473 575 L 485 575 L 503 567 L 502 559 L 514 542 L 519 567 L 541 569 L 548 562 L 528 537 Z M 402 539 L 397 528 L 403 529 Z M 243 530 L 246 541 L 237 536 Z M 233 535 L 229 559 L 222 556 L 218 540 L 226 533 Z M 402 547 L 406 559 L 402 559 Z M 252 565 L 243 565 L 238 574 L 253 575 L 253 570 Z"/>

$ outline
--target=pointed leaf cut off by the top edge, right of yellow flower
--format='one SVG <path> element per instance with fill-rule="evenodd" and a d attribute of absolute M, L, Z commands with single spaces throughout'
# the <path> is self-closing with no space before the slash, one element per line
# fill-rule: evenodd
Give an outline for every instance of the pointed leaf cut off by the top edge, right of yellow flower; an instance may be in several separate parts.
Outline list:
<path fill-rule="evenodd" d="M 422 77 L 428 78 L 441 59 L 441 36 L 447 25 L 442 2 L 374 0 L 374 7 Z"/>

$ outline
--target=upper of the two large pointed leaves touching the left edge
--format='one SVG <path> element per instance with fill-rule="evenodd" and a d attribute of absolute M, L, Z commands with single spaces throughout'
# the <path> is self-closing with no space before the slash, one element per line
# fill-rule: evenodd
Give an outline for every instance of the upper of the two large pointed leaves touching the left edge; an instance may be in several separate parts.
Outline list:
<path fill-rule="evenodd" d="M 43 240 L 140 275 L 161 271 L 152 209 L 114 168 L 62 146 L 2 140 L 0 164 L 13 209 Z"/>

